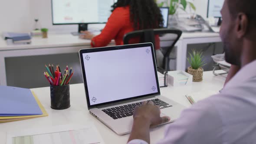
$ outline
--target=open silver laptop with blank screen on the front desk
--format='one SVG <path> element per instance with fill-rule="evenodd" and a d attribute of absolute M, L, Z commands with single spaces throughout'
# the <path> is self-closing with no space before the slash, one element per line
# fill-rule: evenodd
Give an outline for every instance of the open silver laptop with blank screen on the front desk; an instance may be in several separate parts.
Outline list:
<path fill-rule="evenodd" d="M 133 110 L 142 101 L 159 105 L 170 122 L 184 110 L 161 96 L 152 43 L 81 49 L 79 56 L 88 109 L 116 134 L 131 132 Z"/>

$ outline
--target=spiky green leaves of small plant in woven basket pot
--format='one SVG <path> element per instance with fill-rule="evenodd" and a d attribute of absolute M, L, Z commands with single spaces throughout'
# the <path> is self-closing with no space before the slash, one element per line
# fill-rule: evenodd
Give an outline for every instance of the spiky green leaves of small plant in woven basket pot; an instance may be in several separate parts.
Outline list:
<path fill-rule="evenodd" d="M 190 63 L 192 69 L 199 69 L 206 65 L 203 61 L 203 52 L 192 49 L 192 54 L 189 52 L 189 55 L 190 57 L 187 58 L 187 61 Z"/>

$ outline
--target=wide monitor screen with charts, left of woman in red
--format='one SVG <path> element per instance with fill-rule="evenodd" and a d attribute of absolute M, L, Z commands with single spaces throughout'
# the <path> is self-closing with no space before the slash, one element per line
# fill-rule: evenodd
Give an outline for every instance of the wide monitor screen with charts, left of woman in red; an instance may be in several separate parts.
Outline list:
<path fill-rule="evenodd" d="M 106 23 L 114 0 L 52 0 L 53 24 Z"/>

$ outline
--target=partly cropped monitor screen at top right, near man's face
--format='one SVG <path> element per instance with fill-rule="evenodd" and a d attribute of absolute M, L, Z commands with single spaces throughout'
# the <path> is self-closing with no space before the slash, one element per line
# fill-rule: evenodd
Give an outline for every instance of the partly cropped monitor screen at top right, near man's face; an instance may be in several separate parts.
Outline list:
<path fill-rule="evenodd" d="M 222 17 L 220 10 L 222 9 L 224 0 L 208 0 L 207 17 Z"/>

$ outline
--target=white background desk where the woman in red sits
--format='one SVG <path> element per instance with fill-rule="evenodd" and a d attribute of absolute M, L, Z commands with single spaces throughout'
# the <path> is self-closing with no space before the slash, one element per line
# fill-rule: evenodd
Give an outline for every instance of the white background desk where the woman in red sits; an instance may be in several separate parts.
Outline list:
<path fill-rule="evenodd" d="M 170 41 L 168 35 L 161 37 L 161 43 Z M 195 43 L 220 42 L 218 33 L 183 33 L 177 42 L 177 70 L 186 69 L 187 45 Z M 114 42 L 110 45 L 114 45 Z M 19 56 L 39 56 L 64 53 L 75 53 L 79 49 L 90 48 L 90 40 L 79 39 L 71 34 L 49 35 L 47 39 L 34 37 L 30 45 L 8 46 L 6 41 L 0 39 L 0 85 L 7 85 L 5 58 Z M 33 64 L 33 62 L 31 63 Z"/>

